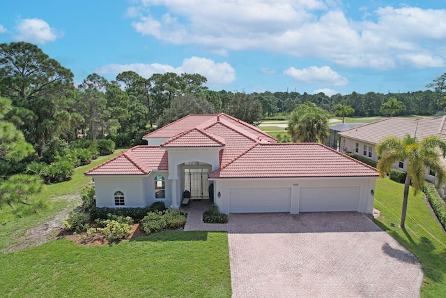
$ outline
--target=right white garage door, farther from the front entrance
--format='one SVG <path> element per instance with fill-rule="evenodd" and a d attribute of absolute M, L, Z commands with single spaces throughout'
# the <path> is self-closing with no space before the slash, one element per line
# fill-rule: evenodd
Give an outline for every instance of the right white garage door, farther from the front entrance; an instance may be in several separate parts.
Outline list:
<path fill-rule="evenodd" d="M 302 187 L 300 212 L 357 211 L 360 187 Z"/>

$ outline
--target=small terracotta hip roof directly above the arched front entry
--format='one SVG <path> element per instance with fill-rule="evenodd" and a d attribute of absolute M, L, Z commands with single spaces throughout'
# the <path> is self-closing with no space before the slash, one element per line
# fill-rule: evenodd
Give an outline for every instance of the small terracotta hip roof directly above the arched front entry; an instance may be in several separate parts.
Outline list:
<path fill-rule="evenodd" d="M 208 131 L 192 128 L 161 144 L 161 147 L 223 147 L 224 138 Z"/>

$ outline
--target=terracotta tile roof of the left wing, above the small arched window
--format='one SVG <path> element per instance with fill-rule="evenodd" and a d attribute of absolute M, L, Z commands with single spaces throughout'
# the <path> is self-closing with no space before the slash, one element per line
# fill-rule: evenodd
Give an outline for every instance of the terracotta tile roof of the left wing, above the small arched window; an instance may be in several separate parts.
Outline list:
<path fill-rule="evenodd" d="M 85 175 L 146 175 L 168 170 L 167 151 L 157 146 L 137 146 L 84 172 Z"/>

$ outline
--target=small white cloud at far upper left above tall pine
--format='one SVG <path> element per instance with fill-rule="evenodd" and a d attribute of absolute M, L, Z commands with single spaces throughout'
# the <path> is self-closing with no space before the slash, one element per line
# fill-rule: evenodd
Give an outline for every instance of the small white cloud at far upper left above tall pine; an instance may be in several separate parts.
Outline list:
<path fill-rule="evenodd" d="M 49 27 L 49 24 L 40 19 L 23 19 L 15 26 L 17 34 L 16 40 L 27 41 L 29 43 L 45 44 L 63 37 L 63 33 Z"/>

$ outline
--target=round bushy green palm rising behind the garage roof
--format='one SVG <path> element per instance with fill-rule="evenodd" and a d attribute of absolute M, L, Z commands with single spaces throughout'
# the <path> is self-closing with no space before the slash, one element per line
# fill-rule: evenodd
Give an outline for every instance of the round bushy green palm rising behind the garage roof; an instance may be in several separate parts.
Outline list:
<path fill-rule="evenodd" d="M 293 142 L 323 142 L 328 131 L 328 112 L 315 103 L 303 103 L 291 112 L 288 133 Z"/>

